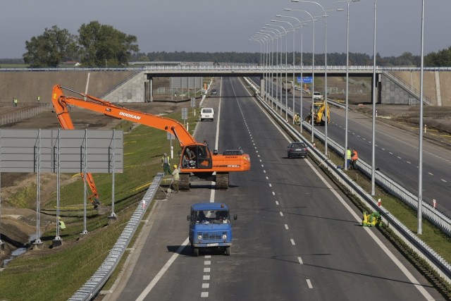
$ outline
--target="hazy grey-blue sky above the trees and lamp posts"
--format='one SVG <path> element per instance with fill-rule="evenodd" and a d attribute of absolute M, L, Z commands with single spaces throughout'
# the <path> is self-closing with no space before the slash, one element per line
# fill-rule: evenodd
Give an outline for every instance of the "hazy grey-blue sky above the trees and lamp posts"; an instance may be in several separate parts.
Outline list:
<path fill-rule="evenodd" d="M 327 52 L 346 51 L 346 1 L 317 1 L 328 11 Z M 424 54 L 451 47 L 451 0 L 425 0 Z M 1 0 L 0 58 L 22 58 L 25 41 L 42 35 L 53 25 L 78 35 L 78 29 L 93 20 L 135 35 L 140 52 L 237 51 L 259 52 L 258 42 L 249 41 L 271 20 L 297 25 L 293 16 L 308 20 L 307 13 L 322 16 L 321 7 L 290 0 Z M 421 52 L 421 0 L 378 0 L 376 51 L 381 56 Z M 324 18 L 315 27 L 315 54 L 324 53 Z M 350 3 L 350 52 L 373 54 L 374 0 Z M 288 23 L 281 25 L 289 31 Z M 304 26 L 303 51 L 311 52 L 312 23 Z M 283 31 L 281 27 L 274 27 Z M 273 30 L 274 31 L 274 30 Z M 301 32 L 295 33 L 300 51 Z M 285 37 L 282 39 L 285 50 Z M 292 51 L 292 32 L 288 33 Z"/>

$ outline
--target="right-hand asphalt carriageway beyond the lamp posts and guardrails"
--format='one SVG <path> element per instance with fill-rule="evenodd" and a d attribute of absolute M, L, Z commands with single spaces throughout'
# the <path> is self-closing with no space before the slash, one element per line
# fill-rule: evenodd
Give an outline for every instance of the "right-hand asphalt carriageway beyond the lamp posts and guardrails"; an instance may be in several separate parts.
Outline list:
<path fill-rule="evenodd" d="M 254 79 L 255 80 L 255 79 Z M 280 88 L 273 92 L 279 97 Z M 279 97 L 280 98 L 280 97 Z M 285 104 L 285 94 L 282 95 Z M 292 106 L 292 94 L 288 94 L 288 106 Z M 311 98 L 304 94 L 302 116 L 309 114 Z M 295 111 L 300 112 L 300 92 L 295 92 Z M 325 126 L 314 126 L 322 133 Z M 371 164 L 372 118 L 356 111 L 348 112 L 348 142 L 350 149 L 359 152 L 359 158 Z M 306 134 L 309 135 L 309 134 Z M 345 110 L 330 107 L 328 138 L 345 145 Z M 390 176 L 413 195 L 419 193 L 419 135 L 376 119 L 376 168 Z M 344 163 L 343 163 L 344 164 Z M 423 141 L 423 199 L 433 204 L 447 216 L 451 216 L 451 152 L 446 145 L 424 139 Z"/>

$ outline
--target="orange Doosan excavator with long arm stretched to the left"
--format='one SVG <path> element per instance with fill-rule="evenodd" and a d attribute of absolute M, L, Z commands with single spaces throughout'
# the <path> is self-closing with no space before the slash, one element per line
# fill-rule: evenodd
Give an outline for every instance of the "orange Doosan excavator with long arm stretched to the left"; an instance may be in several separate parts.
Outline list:
<path fill-rule="evenodd" d="M 80 97 L 66 96 L 63 90 L 75 93 Z M 214 180 L 216 188 L 227 189 L 229 185 L 229 172 L 248 171 L 251 168 L 249 154 L 245 154 L 241 149 L 236 151 L 226 151 L 223 154 L 211 152 L 206 143 L 197 142 L 194 137 L 185 129 L 183 124 L 171 118 L 155 116 L 141 111 L 125 109 L 123 106 L 106 102 L 105 100 L 91 95 L 76 92 L 54 85 L 51 102 L 54 106 L 56 116 L 61 127 L 66 130 L 73 130 L 74 125 L 70 118 L 70 106 L 78 106 L 82 109 L 102 113 L 111 118 L 118 118 L 147 125 L 151 128 L 165 130 L 177 137 L 182 152 L 180 153 L 180 189 L 190 188 L 190 177 L 203 180 Z M 87 180 L 87 185 L 92 191 L 90 200 L 94 207 L 99 204 L 99 195 L 96 185 L 90 173 L 82 177 Z"/>

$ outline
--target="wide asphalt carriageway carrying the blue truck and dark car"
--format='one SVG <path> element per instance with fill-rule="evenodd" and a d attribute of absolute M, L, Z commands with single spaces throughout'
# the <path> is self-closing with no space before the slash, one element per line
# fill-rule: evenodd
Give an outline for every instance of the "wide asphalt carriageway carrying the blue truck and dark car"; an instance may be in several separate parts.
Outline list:
<path fill-rule="evenodd" d="M 156 203 L 125 269 L 104 300 L 443 300 L 310 159 L 288 159 L 290 140 L 237 78 L 216 78 L 204 106 L 215 120 L 194 136 L 242 149 L 252 168 L 230 188 L 199 182 Z M 190 205 L 224 202 L 231 255 L 187 245 Z"/>

